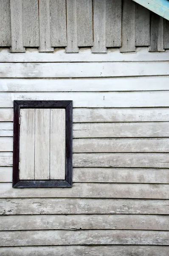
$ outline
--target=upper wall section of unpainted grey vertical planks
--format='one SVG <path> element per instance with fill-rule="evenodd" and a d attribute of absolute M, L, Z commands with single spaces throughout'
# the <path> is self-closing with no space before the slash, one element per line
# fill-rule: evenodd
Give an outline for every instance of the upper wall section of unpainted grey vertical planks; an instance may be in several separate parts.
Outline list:
<path fill-rule="evenodd" d="M 0 47 L 25 52 L 169 49 L 169 21 L 132 0 L 0 0 Z"/>

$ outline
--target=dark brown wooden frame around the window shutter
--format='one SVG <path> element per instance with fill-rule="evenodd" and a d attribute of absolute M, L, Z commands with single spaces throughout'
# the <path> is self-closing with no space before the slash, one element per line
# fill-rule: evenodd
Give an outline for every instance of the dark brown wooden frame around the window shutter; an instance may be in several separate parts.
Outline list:
<path fill-rule="evenodd" d="M 72 110 L 71 100 L 36 101 L 14 100 L 14 144 L 13 144 L 13 183 L 14 188 L 51 188 L 72 186 Z M 65 108 L 65 180 L 20 180 L 20 109 L 21 108 Z"/>

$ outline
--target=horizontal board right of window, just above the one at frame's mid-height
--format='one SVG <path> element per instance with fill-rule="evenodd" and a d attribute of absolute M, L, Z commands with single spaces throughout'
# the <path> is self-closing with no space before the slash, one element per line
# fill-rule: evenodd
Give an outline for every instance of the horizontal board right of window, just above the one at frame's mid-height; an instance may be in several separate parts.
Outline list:
<path fill-rule="evenodd" d="M 75 123 L 73 137 L 169 137 L 169 122 Z"/>

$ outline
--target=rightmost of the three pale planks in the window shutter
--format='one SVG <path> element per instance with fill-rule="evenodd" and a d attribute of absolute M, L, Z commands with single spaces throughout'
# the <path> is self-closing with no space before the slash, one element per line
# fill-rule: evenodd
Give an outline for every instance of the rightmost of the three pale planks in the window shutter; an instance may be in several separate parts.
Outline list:
<path fill-rule="evenodd" d="M 65 180 L 65 109 L 51 109 L 50 179 Z"/>

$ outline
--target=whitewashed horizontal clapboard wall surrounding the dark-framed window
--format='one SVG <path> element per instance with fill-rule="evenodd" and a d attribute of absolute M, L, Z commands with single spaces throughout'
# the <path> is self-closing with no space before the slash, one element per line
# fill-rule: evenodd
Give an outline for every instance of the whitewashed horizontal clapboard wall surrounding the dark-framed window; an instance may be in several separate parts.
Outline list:
<path fill-rule="evenodd" d="M 169 51 L 0 51 L 0 255 L 167 256 Z M 13 100 L 73 100 L 73 187 L 12 188 Z"/>

